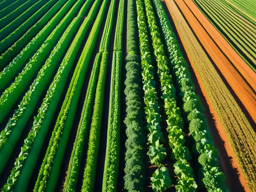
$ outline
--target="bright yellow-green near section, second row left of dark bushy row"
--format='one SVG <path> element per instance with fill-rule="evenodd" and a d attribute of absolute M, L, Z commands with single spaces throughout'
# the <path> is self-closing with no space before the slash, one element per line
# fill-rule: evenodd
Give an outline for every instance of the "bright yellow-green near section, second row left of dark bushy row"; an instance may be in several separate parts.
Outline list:
<path fill-rule="evenodd" d="M 105 80 L 109 54 L 108 52 L 100 52 L 98 54 L 102 54 L 102 58 L 100 62 L 99 80 L 97 83 L 95 94 L 95 104 L 93 107 L 87 159 L 83 175 L 82 192 L 93 191 L 100 145 L 100 128 L 104 104 Z"/>

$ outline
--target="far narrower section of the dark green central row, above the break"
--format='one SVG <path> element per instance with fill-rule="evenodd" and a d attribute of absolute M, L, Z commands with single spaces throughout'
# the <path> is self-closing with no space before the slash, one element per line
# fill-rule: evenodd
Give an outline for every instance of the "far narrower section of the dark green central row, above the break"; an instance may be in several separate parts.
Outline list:
<path fill-rule="evenodd" d="M 137 25 L 137 12 L 136 1 L 127 1 L 127 43 L 126 43 L 127 55 L 130 53 L 139 54 L 139 36 Z"/>

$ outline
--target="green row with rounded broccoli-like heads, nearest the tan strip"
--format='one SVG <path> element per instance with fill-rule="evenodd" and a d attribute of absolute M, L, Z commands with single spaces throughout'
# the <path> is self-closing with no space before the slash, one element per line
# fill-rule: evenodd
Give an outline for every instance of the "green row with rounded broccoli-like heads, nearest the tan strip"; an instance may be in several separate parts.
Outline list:
<path fill-rule="evenodd" d="M 220 172 L 218 167 L 218 150 L 214 147 L 211 134 L 207 125 L 205 115 L 202 113 L 204 108 L 198 95 L 195 94 L 195 85 L 191 80 L 188 71 L 188 64 L 183 58 L 182 52 L 175 39 L 173 29 L 169 23 L 167 15 L 160 0 L 153 0 L 156 13 L 161 24 L 161 31 L 169 58 L 169 66 L 176 79 L 179 97 L 183 100 L 183 111 L 187 115 L 190 134 L 195 139 L 196 148 L 199 156 L 199 163 L 203 167 L 204 182 L 207 191 L 229 191 L 225 185 L 225 175 Z"/>

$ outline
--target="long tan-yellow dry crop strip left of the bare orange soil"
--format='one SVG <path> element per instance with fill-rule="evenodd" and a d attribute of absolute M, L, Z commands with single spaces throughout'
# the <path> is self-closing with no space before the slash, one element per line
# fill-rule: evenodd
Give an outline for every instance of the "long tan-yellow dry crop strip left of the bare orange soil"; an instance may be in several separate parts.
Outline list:
<path fill-rule="evenodd" d="M 177 3 L 180 4 L 181 2 Z M 254 146 L 256 144 L 256 134 L 191 31 L 194 26 L 191 29 L 189 28 L 174 1 L 166 1 L 166 4 L 210 110 L 215 116 L 216 122 L 221 124 L 221 126 L 217 126 L 217 129 L 219 129 L 219 134 L 226 143 L 226 150 L 228 154 L 233 152 L 233 154 L 229 155 L 233 157 L 233 166 L 238 168 L 240 181 L 246 191 L 249 191 L 248 188 L 254 190 L 256 170 L 256 149 Z M 186 15 L 186 13 L 184 14 Z M 215 64 L 219 65 L 218 63 Z M 246 186 L 245 179 L 248 186 Z"/>

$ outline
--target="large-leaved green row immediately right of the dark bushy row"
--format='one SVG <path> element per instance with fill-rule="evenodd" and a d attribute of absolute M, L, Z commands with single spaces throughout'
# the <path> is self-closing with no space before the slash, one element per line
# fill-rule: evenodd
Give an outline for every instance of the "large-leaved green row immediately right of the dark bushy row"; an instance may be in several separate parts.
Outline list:
<path fill-rule="evenodd" d="M 138 31 L 140 37 L 141 65 L 144 90 L 144 102 L 146 104 L 145 113 L 147 114 L 147 129 L 149 155 L 151 164 L 159 166 L 151 177 L 151 185 L 154 191 L 165 191 L 172 185 L 172 179 L 169 175 L 169 170 L 161 164 L 161 161 L 166 157 L 166 149 L 160 141 L 164 142 L 163 132 L 161 132 L 161 115 L 159 114 L 159 105 L 157 92 L 155 90 L 154 67 L 150 56 L 150 45 L 148 43 L 147 26 L 145 19 L 145 8 L 141 0 L 136 0 Z"/>

